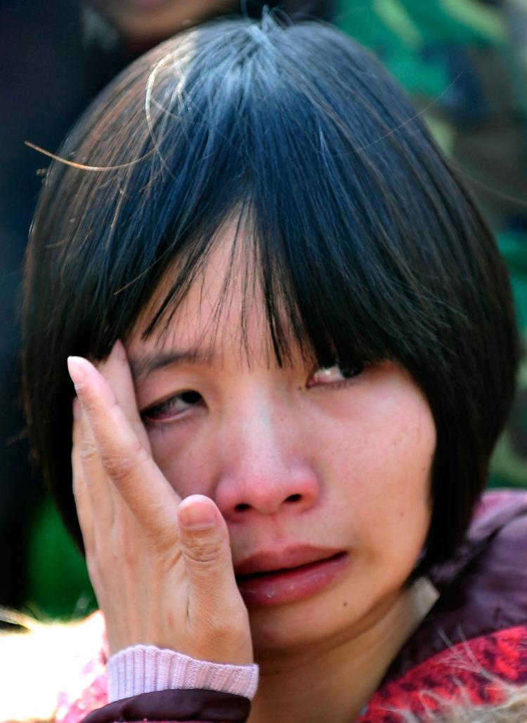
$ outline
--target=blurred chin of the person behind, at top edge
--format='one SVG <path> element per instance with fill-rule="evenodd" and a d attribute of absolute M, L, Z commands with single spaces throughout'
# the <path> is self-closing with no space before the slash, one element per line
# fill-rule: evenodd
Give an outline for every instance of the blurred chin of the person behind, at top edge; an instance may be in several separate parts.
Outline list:
<path fill-rule="evenodd" d="M 152 46 L 236 7 L 235 0 L 92 0 L 132 45 Z"/>

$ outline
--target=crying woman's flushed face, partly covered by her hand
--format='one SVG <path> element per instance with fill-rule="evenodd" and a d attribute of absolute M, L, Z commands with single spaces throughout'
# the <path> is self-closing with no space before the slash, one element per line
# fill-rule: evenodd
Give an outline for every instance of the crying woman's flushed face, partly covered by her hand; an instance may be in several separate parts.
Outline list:
<path fill-rule="evenodd" d="M 277 367 L 258 295 L 245 354 L 236 288 L 213 316 L 232 235 L 167 333 L 138 332 L 127 353 L 154 458 L 227 521 L 265 654 L 358 635 L 395 605 L 429 527 L 436 431 L 395 363 L 311 369 L 299 354 Z"/>

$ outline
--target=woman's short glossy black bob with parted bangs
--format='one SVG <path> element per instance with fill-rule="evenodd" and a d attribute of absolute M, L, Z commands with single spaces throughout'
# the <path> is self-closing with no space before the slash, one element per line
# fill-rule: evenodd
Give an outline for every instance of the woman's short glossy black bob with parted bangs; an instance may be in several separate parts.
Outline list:
<path fill-rule="evenodd" d="M 104 359 L 173 269 L 145 335 L 159 328 L 236 214 L 279 364 L 293 339 L 325 366 L 397 360 L 425 393 L 421 569 L 450 557 L 513 399 L 515 317 L 492 233 L 374 57 L 269 13 L 202 26 L 126 69 L 60 155 L 30 234 L 23 361 L 35 455 L 77 539 L 66 358 Z"/>

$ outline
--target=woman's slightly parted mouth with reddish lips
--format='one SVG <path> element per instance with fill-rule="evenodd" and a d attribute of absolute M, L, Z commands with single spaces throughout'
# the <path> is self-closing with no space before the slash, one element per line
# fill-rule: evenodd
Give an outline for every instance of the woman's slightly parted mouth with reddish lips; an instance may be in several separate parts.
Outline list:
<path fill-rule="evenodd" d="M 333 552 L 317 556 L 311 552 L 311 560 L 293 564 L 294 558 L 309 557 L 305 551 L 293 551 L 282 555 L 282 565 L 273 568 L 273 560 L 280 556 L 260 555 L 235 568 L 240 594 L 248 607 L 268 607 L 287 604 L 313 596 L 329 586 L 346 567 L 346 552 Z M 315 559 L 313 559 L 315 557 Z M 261 568 L 258 569 L 258 565 Z"/>

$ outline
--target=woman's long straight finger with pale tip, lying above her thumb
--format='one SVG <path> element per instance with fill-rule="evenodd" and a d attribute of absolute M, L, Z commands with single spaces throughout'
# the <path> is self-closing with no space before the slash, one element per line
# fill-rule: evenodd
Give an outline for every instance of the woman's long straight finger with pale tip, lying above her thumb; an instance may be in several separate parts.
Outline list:
<path fill-rule="evenodd" d="M 149 448 L 138 438 L 109 382 L 82 357 L 69 357 L 68 369 L 109 481 L 148 534 L 164 537 L 171 533 L 173 539 L 174 510 L 179 499 L 151 458 Z M 110 369 L 111 375 L 115 372 L 116 369 Z M 119 393 L 125 399 L 128 414 L 133 414 L 128 383 L 122 382 Z M 87 454 L 89 458 L 90 452 Z"/>

